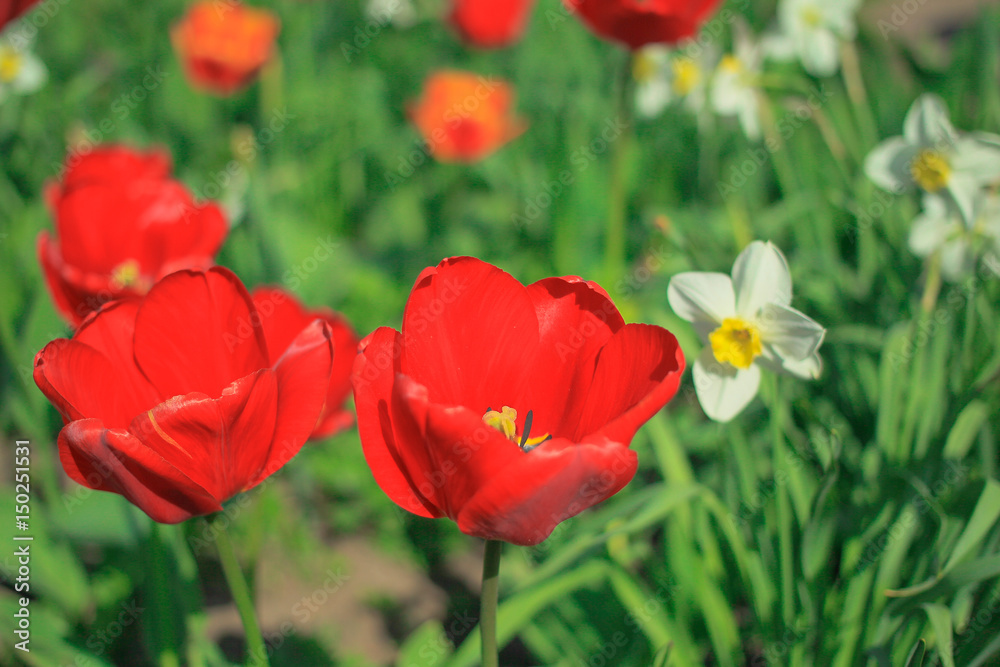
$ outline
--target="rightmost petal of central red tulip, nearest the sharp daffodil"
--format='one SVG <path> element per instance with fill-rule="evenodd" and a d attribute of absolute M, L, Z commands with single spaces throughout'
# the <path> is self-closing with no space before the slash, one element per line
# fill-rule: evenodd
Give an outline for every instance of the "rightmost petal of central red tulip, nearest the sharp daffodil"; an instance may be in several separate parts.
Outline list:
<path fill-rule="evenodd" d="M 674 397 L 683 372 L 684 353 L 672 333 L 626 325 L 601 350 L 579 432 L 599 432 L 627 445 Z"/>

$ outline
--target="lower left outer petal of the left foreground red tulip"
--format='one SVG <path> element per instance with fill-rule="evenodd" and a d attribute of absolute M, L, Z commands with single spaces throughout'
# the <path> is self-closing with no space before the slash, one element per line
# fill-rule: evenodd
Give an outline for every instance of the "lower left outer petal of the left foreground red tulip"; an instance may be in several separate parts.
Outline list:
<path fill-rule="evenodd" d="M 98 419 L 67 424 L 59 433 L 59 458 L 75 481 L 125 496 L 154 521 L 179 523 L 222 509 L 204 488 L 132 434 L 105 429 Z"/>

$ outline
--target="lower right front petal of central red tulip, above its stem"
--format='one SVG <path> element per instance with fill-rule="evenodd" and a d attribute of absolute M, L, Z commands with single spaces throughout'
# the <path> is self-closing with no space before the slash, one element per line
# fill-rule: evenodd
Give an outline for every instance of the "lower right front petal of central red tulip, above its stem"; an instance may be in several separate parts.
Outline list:
<path fill-rule="evenodd" d="M 620 443 L 550 440 L 520 456 L 466 503 L 458 527 L 487 540 L 538 544 L 560 522 L 618 493 L 637 466 L 635 452 Z"/>

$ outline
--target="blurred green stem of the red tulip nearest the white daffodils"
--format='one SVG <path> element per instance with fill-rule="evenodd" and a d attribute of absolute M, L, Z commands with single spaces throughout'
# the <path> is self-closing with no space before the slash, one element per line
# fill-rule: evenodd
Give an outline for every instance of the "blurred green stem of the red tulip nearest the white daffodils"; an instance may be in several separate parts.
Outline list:
<path fill-rule="evenodd" d="M 625 67 L 618 81 L 617 122 L 622 127 L 621 136 L 612 139 L 611 185 L 608 192 L 607 236 L 604 239 L 604 272 L 607 284 L 615 284 L 625 274 L 625 172 L 628 148 L 632 137 L 632 105 L 629 91 L 632 80 L 632 57 L 625 61 Z"/>

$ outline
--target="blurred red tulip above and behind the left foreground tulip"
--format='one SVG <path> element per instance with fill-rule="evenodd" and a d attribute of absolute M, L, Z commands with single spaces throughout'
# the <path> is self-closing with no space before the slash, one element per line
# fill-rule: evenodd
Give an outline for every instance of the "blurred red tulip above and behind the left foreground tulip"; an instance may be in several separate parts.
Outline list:
<path fill-rule="evenodd" d="M 57 238 L 39 234 L 38 259 L 73 326 L 173 271 L 212 266 L 229 231 L 225 216 L 213 203 L 195 204 L 169 175 L 162 151 L 108 146 L 69 158 L 62 182 L 48 186 Z"/>

